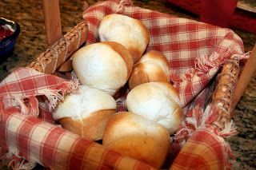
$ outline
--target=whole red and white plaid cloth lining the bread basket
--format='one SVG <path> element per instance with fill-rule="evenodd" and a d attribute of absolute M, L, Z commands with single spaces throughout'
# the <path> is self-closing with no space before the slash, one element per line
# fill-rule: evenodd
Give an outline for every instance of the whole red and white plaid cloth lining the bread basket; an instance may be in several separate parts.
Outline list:
<path fill-rule="evenodd" d="M 146 50 L 156 49 L 168 60 L 170 77 L 178 90 L 185 117 L 182 127 L 173 137 L 172 152 L 178 152 L 190 139 L 172 168 L 195 168 L 194 160 L 190 159 L 196 159 L 202 165 L 196 164 L 197 168 L 216 168 L 214 164 L 218 164 L 218 168 L 230 168 L 228 147 L 219 136 L 220 132 L 202 122 L 202 109 L 210 95 L 210 80 L 227 59 L 243 53 L 242 40 L 231 30 L 142 9 L 122 0 L 100 2 L 85 10 L 83 18 L 89 26 L 87 44 L 98 42 L 99 23 L 112 13 L 141 20 L 150 31 L 150 45 Z M 38 162 L 49 168 L 150 169 L 147 164 L 51 124 L 50 111 L 74 89 L 75 82 L 32 69 L 18 69 L 6 77 L 0 84 L 0 156 L 8 149 L 19 160 Z M 118 104 L 124 106 L 124 100 L 125 97 L 118 98 Z M 204 140 L 206 134 L 216 140 Z M 211 160 L 202 160 L 202 149 L 198 153 L 193 144 L 206 145 L 211 151 L 206 152 L 206 156 L 213 158 L 214 164 Z"/>

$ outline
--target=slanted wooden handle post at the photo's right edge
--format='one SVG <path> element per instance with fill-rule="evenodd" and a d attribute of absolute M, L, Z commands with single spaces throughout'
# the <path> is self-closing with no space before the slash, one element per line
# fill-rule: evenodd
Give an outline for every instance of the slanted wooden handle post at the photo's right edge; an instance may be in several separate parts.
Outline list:
<path fill-rule="evenodd" d="M 238 84 L 234 89 L 233 101 L 232 101 L 232 110 L 238 104 L 238 101 L 242 97 L 242 93 L 245 91 L 246 86 L 250 83 L 251 77 L 254 76 L 256 70 L 256 44 L 254 49 L 250 53 L 250 58 L 246 61 L 245 68 L 242 70 L 241 76 L 238 80 Z"/>

